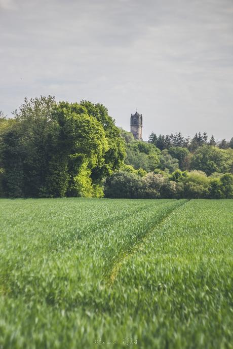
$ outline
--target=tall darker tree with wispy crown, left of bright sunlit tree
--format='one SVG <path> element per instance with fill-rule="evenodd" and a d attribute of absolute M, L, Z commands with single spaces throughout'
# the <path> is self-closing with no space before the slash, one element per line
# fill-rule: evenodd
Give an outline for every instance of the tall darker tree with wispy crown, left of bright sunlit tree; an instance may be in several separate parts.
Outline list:
<path fill-rule="evenodd" d="M 25 197 L 64 196 L 66 161 L 59 146 L 60 126 L 53 118 L 54 97 L 24 100 L 15 119 L 19 123 Z"/>

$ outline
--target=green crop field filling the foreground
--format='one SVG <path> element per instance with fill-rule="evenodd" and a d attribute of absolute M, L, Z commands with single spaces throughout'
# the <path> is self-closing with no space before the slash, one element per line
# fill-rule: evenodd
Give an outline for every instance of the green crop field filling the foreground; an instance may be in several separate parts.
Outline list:
<path fill-rule="evenodd" d="M 233 200 L 0 208 L 0 349 L 233 348 Z"/>

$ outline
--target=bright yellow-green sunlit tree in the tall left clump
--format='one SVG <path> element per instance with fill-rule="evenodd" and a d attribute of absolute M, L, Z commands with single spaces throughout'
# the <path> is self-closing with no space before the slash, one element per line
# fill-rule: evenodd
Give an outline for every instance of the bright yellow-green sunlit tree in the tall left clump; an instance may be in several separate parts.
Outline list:
<path fill-rule="evenodd" d="M 104 166 L 109 149 L 102 123 L 78 103 L 60 102 L 53 117 L 62 126 L 59 139 L 67 156 L 67 195 L 102 196 L 98 185 L 102 177 L 97 178 L 96 173 Z M 96 171 L 95 179 L 93 171 Z"/>

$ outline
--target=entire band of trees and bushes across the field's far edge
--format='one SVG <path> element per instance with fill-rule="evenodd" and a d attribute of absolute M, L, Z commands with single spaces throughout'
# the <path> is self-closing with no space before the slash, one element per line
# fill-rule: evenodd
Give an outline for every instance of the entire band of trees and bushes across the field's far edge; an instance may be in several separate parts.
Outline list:
<path fill-rule="evenodd" d="M 100 103 L 25 99 L 13 118 L 0 112 L 0 196 L 231 198 L 232 139 L 223 141 L 135 141 Z"/>

